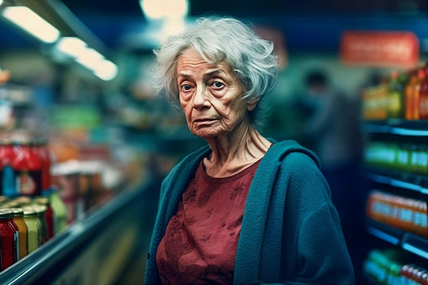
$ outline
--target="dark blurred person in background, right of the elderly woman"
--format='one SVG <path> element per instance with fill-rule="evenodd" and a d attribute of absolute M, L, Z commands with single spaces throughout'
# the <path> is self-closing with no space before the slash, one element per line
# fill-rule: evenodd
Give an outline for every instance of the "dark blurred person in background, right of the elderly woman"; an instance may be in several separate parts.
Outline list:
<path fill-rule="evenodd" d="M 337 90 L 322 69 L 309 70 L 304 83 L 306 94 L 300 99 L 300 107 L 308 117 L 301 135 L 308 148 L 319 156 L 321 172 L 332 190 L 333 204 L 338 209 L 349 254 L 359 275 L 360 237 L 364 232 L 359 97 Z"/>

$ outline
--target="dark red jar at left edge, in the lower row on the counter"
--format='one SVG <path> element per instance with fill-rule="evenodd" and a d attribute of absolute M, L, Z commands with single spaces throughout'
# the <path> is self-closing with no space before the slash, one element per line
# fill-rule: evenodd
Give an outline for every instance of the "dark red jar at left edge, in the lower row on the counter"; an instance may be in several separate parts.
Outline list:
<path fill-rule="evenodd" d="M 13 220 L 12 211 L 0 210 L 1 271 L 7 269 L 18 259 L 18 227 Z"/>

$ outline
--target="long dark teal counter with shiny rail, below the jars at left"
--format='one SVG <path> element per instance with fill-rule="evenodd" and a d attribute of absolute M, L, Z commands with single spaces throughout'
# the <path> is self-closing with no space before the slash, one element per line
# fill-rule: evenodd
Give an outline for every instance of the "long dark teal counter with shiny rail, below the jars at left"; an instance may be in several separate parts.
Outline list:
<path fill-rule="evenodd" d="M 143 193 L 144 187 L 123 189 L 93 213 L 79 217 L 64 232 L 1 272 L 0 284 L 89 284 L 88 280 L 100 280 L 103 268 L 109 271 L 102 277 L 114 280 L 122 270 L 120 264 L 126 264 L 137 247 Z"/>

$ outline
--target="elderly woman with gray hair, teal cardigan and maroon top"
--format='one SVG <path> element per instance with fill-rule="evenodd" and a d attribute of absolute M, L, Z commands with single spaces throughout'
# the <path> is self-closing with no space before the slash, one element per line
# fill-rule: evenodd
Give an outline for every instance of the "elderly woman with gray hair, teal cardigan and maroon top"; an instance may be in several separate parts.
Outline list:
<path fill-rule="evenodd" d="M 260 133 L 273 44 L 200 18 L 155 55 L 155 87 L 208 145 L 163 180 L 146 284 L 353 284 L 317 157 Z"/>

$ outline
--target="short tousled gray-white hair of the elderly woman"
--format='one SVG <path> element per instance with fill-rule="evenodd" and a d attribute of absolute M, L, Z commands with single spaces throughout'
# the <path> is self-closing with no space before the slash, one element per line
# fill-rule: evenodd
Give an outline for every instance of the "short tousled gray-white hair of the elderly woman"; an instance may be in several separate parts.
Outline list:
<path fill-rule="evenodd" d="M 243 87 L 243 99 L 260 98 L 250 112 L 251 123 L 260 128 L 265 120 L 267 104 L 263 100 L 276 84 L 278 59 L 273 43 L 260 38 L 250 25 L 234 18 L 198 18 L 183 33 L 170 36 L 154 53 L 152 82 L 157 94 L 166 96 L 173 107 L 180 109 L 176 81 L 176 62 L 186 50 L 194 49 L 211 64 L 225 62 Z"/>

